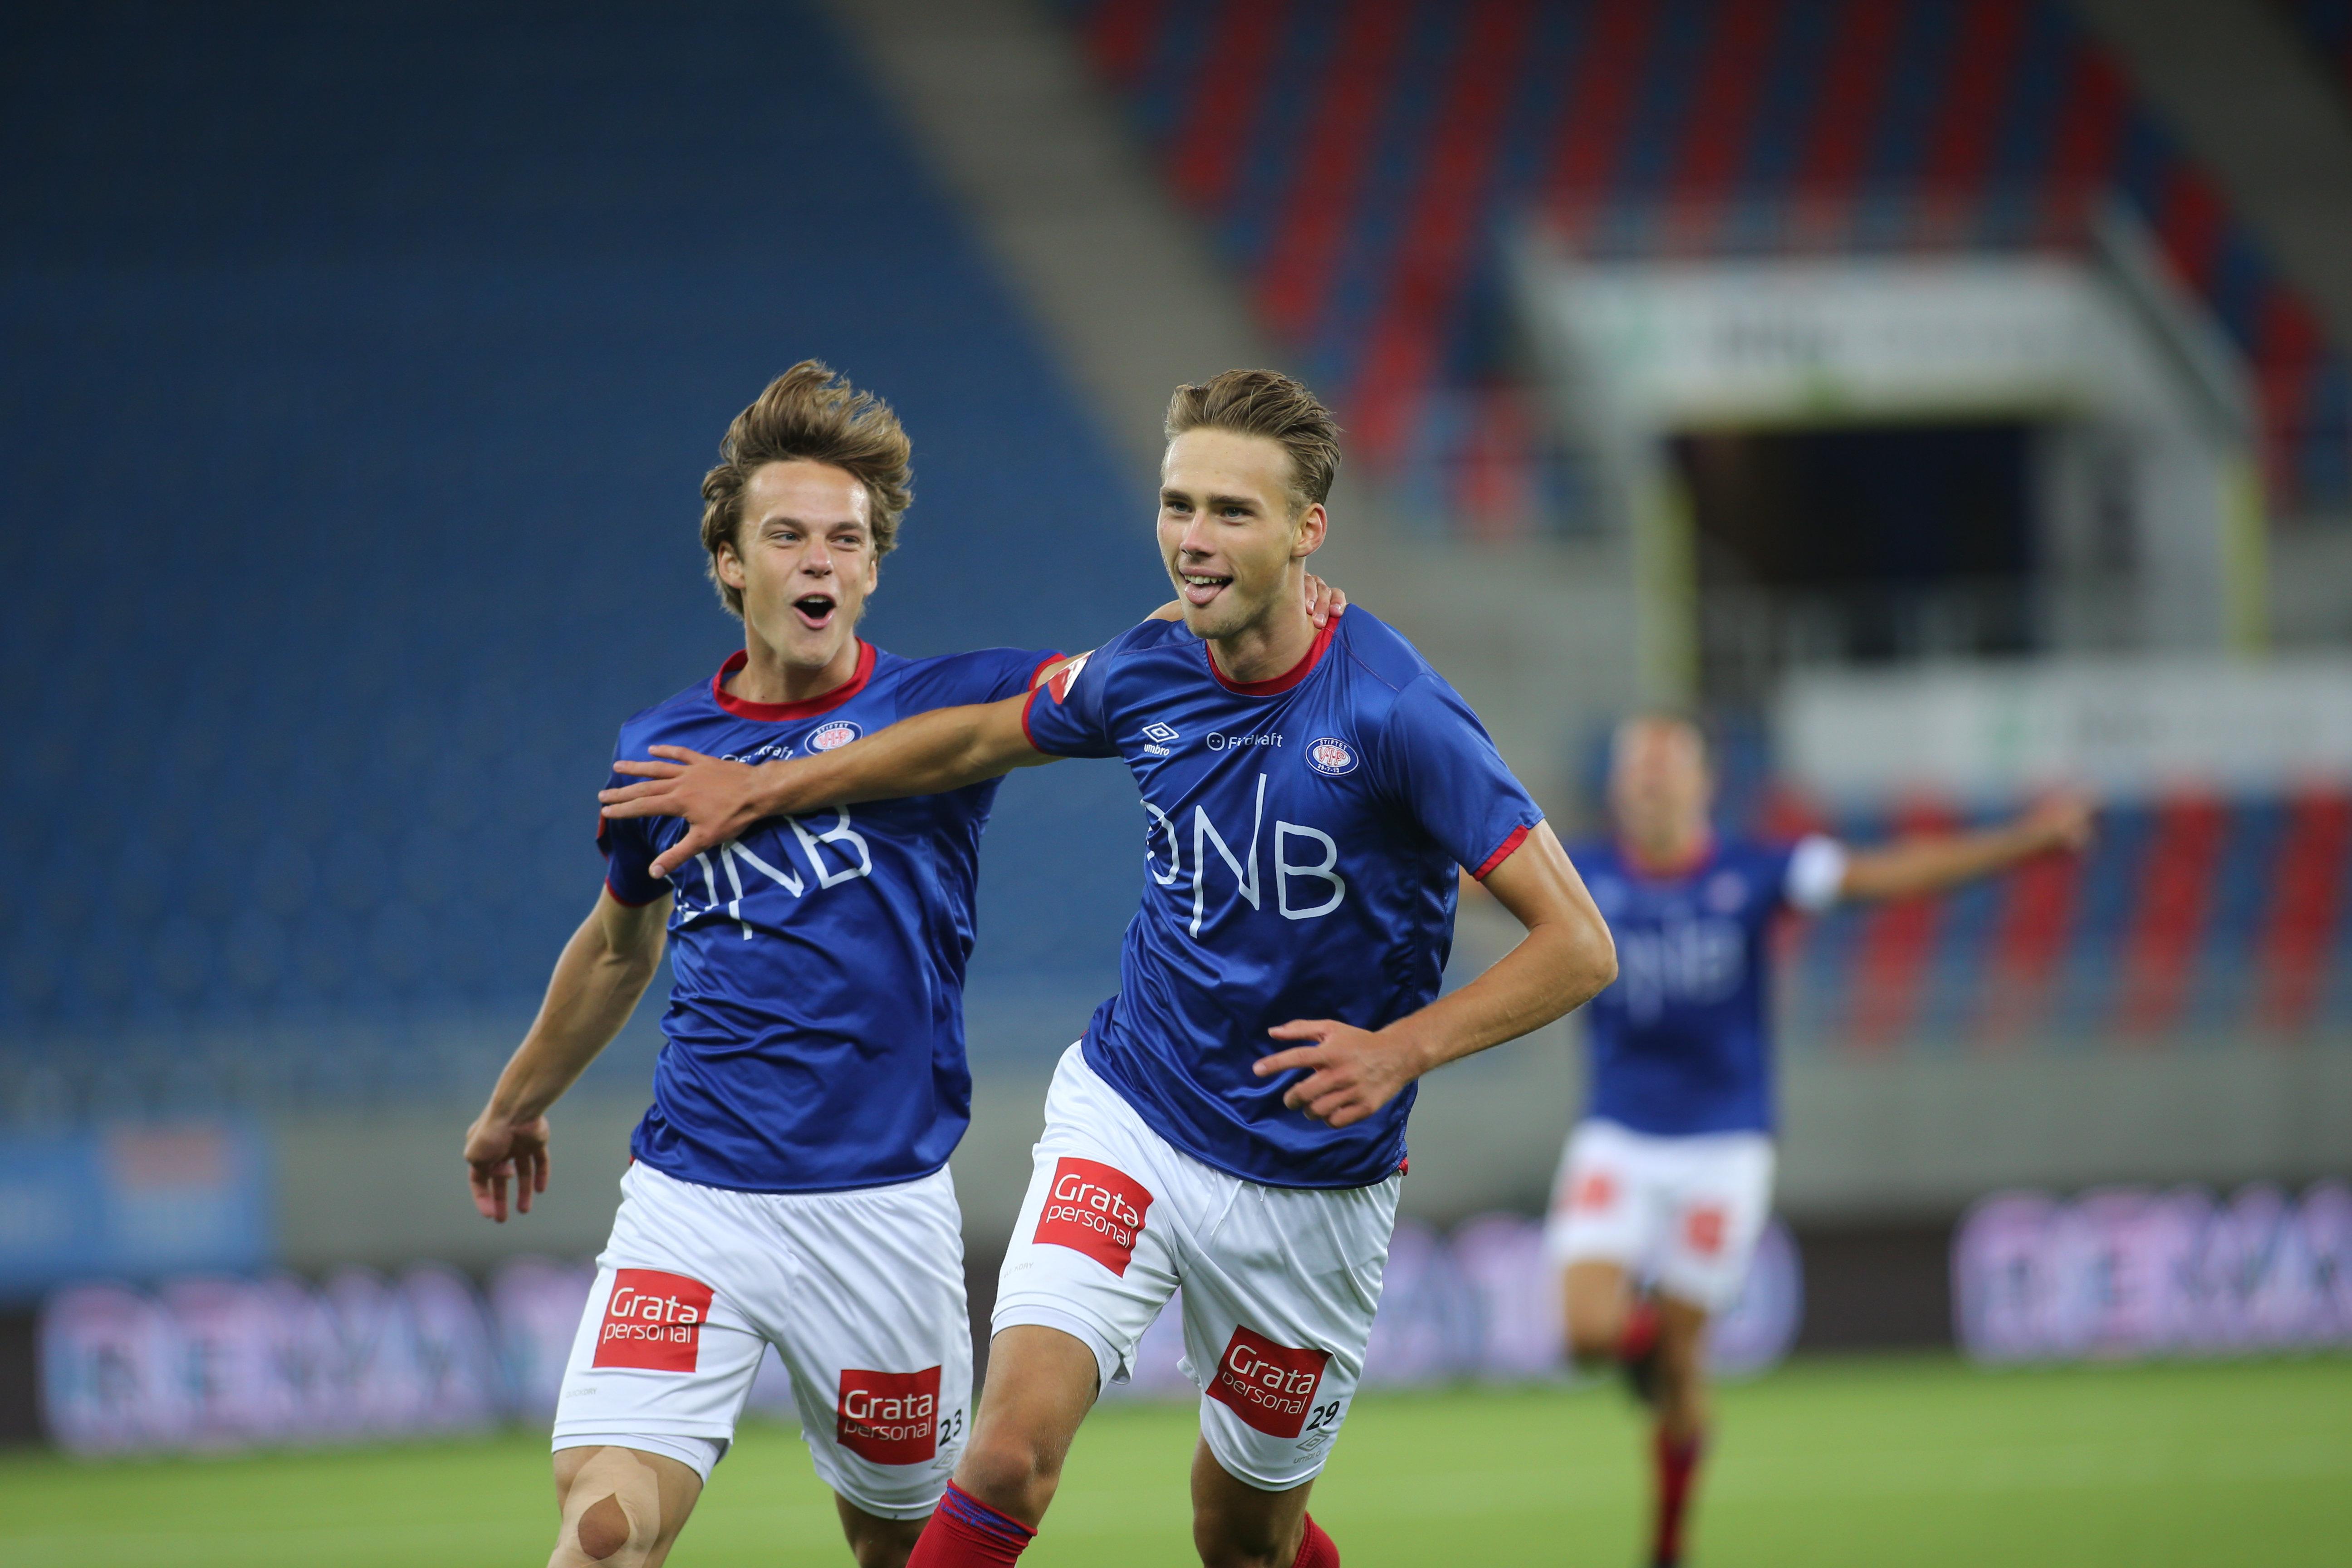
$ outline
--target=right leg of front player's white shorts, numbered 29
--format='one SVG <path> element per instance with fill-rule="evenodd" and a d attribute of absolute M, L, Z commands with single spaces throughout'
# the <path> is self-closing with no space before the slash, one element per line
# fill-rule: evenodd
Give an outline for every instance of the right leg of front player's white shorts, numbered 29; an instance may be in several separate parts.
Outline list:
<path fill-rule="evenodd" d="M 1312 1481 L 1348 1420 L 1381 1307 L 1399 1178 L 1296 1192 L 1242 1182 L 1183 1258 L 1200 1432 L 1237 1481 Z"/>

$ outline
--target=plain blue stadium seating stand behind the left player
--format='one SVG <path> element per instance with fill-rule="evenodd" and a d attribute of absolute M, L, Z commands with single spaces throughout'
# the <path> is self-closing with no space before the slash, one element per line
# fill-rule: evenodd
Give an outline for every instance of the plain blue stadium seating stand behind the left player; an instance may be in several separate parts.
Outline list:
<path fill-rule="evenodd" d="M 802 355 L 917 442 L 875 639 L 1084 646 L 1164 597 L 795 5 L 9 12 L 0 146 L 0 853 L 38 886 L 0 1121 L 480 1093 L 595 889 L 614 729 L 739 646 L 696 482 Z M 1011 557 L 971 527 L 1016 517 Z M 1058 773 L 1007 790 L 981 966 L 1098 994 L 1134 806 Z M 1122 853 L 1047 879 L 1089 832 Z"/>

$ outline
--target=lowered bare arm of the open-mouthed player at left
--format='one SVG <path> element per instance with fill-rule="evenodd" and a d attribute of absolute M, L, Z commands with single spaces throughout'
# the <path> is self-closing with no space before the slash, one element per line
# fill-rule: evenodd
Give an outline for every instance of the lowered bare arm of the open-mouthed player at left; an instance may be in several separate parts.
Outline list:
<path fill-rule="evenodd" d="M 628 1023 L 661 969 L 668 924 L 668 896 L 626 905 L 604 889 L 564 943 L 539 1018 L 466 1128 L 466 1178 L 482 1218 L 506 1222 L 508 1180 L 515 1213 L 532 1213 L 532 1197 L 548 1190 L 548 1107 Z"/>

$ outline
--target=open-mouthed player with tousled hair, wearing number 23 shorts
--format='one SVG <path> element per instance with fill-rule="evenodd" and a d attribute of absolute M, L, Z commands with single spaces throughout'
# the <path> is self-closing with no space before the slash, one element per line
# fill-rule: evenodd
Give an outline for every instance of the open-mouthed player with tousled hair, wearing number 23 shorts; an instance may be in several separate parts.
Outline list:
<path fill-rule="evenodd" d="M 654 745 L 826 752 L 1051 672 L 1056 656 L 1035 649 L 908 661 L 856 635 L 913 498 L 887 404 L 809 360 L 736 416 L 720 456 L 703 548 L 743 651 L 623 724 L 621 759 Z M 673 879 L 652 863 L 684 823 L 597 823 L 604 891 L 466 1135 L 480 1211 L 503 1220 L 510 1180 L 529 1211 L 548 1180 L 548 1107 L 675 938 L 654 1105 L 555 1413 L 550 1563 L 668 1556 L 767 1345 L 856 1561 L 906 1561 L 962 1450 L 971 1389 L 946 1164 L 971 1107 L 962 983 L 995 790 L 753 823 Z"/>

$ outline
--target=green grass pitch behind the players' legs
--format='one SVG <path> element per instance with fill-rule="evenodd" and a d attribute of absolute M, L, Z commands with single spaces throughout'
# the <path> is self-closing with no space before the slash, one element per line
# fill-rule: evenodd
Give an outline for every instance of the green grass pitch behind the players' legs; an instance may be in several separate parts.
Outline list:
<path fill-rule="evenodd" d="M 1023 1568 L 1183 1568 L 1190 1406 L 1087 1422 Z M 1705 1568 L 2352 1561 L 2352 1359 L 1980 1373 L 1813 1361 L 1722 1396 Z M 1642 1427 L 1611 1389 L 1364 1396 L 1317 1483 L 1348 1568 L 1637 1561 Z M 78 1465 L 0 1458 L 9 1568 L 543 1563 L 536 1434 Z M 790 1427 L 750 1427 L 677 1568 L 847 1568 Z"/>

